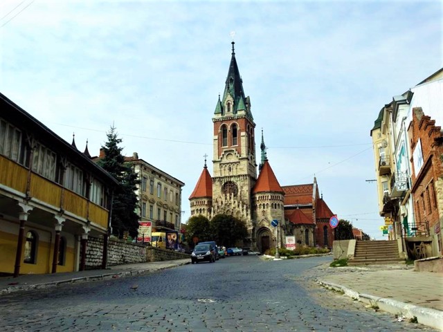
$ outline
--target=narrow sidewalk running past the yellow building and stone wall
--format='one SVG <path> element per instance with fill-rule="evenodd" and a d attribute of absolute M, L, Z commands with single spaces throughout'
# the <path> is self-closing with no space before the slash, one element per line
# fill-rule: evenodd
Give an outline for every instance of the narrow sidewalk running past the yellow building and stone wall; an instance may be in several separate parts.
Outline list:
<path fill-rule="evenodd" d="M 20 275 L 17 278 L 0 277 L 0 296 L 16 291 L 55 287 L 60 284 L 87 282 L 150 273 L 156 270 L 174 268 L 190 264 L 190 259 L 175 259 L 172 261 L 152 261 L 148 263 L 125 264 L 110 266 L 106 270 L 86 270 L 69 273 L 49 273 L 45 275 Z"/>

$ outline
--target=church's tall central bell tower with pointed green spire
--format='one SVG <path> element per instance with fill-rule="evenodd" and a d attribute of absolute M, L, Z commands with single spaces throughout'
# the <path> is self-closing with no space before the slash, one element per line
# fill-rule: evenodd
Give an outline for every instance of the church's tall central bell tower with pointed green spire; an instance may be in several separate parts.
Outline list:
<path fill-rule="evenodd" d="M 257 180 L 255 123 L 251 100 L 244 95 L 234 42 L 223 97 L 213 124 L 213 215 L 229 214 L 253 226 L 251 190 Z"/>

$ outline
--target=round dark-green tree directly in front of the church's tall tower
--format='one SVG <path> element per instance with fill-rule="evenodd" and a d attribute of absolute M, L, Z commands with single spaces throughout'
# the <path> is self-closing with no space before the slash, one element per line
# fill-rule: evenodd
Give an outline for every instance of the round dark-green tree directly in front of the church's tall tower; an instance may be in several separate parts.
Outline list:
<path fill-rule="evenodd" d="M 210 221 L 210 232 L 213 239 L 227 247 L 235 246 L 238 240 L 248 236 L 246 223 L 228 214 L 217 214 Z"/>

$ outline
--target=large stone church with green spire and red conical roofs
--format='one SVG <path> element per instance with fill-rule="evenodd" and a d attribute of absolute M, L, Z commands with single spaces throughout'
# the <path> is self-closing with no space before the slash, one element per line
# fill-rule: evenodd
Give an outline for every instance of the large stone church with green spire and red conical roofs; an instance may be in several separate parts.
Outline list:
<path fill-rule="evenodd" d="M 334 216 L 320 197 L 316 178 L 304 185 L 282 186 L 266 156 L 262 132 L 257 174 L 255 122 L 235 59 L 234 42 L 222 98 L 213 116 L 213 176 L 205 165 L 189 197 L 191 216 L 212 219 L 228 214 L 242 219 L 248 237 L 242 246 L 265 252 L 284 248 L 286 237 L 296 246 L 332 248 Z M 277 227 L 271 225 L 278 221 Z"/>

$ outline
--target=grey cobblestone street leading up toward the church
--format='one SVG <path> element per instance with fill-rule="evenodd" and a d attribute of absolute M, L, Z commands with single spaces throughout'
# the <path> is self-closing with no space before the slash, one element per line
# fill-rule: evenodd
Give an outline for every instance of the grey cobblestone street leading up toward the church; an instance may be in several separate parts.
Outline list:
<path fill-rule="evenodd" d="M 0 297 L 1 331 L 433 331 L 327 291 L 331 257 L 228 257 Z M 314 266 L 318 266 L 314 268 Z"/>

